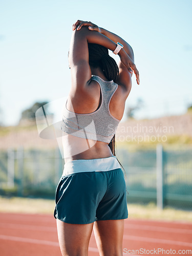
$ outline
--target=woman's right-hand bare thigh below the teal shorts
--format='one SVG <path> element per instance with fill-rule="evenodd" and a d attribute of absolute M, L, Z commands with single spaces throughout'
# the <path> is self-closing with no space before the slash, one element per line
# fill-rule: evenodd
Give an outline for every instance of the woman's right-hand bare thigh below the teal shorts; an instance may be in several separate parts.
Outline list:
<path fill-rule="evenodd" d="M 122 256 L 124 220 L 96 221 L 93 229 L 100 256 Z"/>

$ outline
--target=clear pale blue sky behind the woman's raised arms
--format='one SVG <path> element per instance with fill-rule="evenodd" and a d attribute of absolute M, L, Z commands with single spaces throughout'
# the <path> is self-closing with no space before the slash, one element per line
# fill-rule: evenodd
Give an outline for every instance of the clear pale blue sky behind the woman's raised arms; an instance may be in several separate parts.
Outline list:
<path fill-rule="evenodd" d="M 140 73 L 126 106 L 138 118 L 177 115 L 192 104 L 192 1 L 0 1 L 0 109 L 5 125 L 36 101 L 66 97 L 72 25 L 90 20 L 132 46 Z"/>

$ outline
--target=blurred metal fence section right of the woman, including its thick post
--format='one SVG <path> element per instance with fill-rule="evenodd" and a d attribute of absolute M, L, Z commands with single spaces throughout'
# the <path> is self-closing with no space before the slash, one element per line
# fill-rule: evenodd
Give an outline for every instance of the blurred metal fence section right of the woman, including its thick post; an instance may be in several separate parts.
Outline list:
<path fill-rule="evenodd" d="M 118 150 L 128 202 L 192 209 L 192 147 Z"/>

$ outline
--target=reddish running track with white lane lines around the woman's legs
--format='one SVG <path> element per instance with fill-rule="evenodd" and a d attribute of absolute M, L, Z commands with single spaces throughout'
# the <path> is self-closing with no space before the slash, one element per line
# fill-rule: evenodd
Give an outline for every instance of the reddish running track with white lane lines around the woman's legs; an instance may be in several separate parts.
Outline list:
<path fill-rule="evenodd" d="M 169 254 L 191 254 L 192 223 L 125 220 L 123 255 L 155 255 L 157 250 L 169 250 Z M 141 249 L 141 250 L 140 250 Z M 151 252 L 144 249 L 152 250 Z M 170 253 L 170 249 L 175 250 Z M 140 250 L 140 252 L 136 251 Z M 156 250 L 156 251 L 154 251 Z M 167 251 L 168 252 L 168 251 Z M 185 252 L 185 253 L 184 253 Z M 158 255 L 167 255 L 159 251 Z M 0 214 L 1 256 L 61 255 L 56 221 L 52 215 Z M 89 256 L 99 255 L 94 234 L 90 240 Z"/>

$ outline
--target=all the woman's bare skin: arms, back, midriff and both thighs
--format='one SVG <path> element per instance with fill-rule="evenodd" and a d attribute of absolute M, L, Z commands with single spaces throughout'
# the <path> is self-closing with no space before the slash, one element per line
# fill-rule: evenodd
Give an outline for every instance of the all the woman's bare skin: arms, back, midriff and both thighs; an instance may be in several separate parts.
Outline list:
<path fill-rule="evenodd" d="M 91 75 L 100 76 L 105 81 L 107 78 L 100 68 L 90 67 L 88 43 L 99 44 L 114 51 L 117 41 L 124 47 L 118 53 L 119 77 L 115 81 L 118 88 L 110 101 L 109 108 L 112 116 L 121 120 L 125 101 L 131 91 L 133 72 L 139 84 L 139 72 L 134 64 L 133 49 L 118 35 L 82 20 L 77 20 L 73 25 L 69 53 L 72 87 L 67 102 L 68 110 L 86 114 L 98 109 L 101 103 L 100 86 L 96 81 L 91 80 Z M 64 154 L 65 162 L 113 156 L 108 143 L 101 141 L 66 135 L 63 136 L 64 153 L 66 145 L 70 150 Z M 57 219 L 59 245 L 62 255 L 65 256 L 87 256 L 92 230 L 94 230 L 100 256 L 122 256 L 123 229 L 124 220 L 69 224 Z"/>

